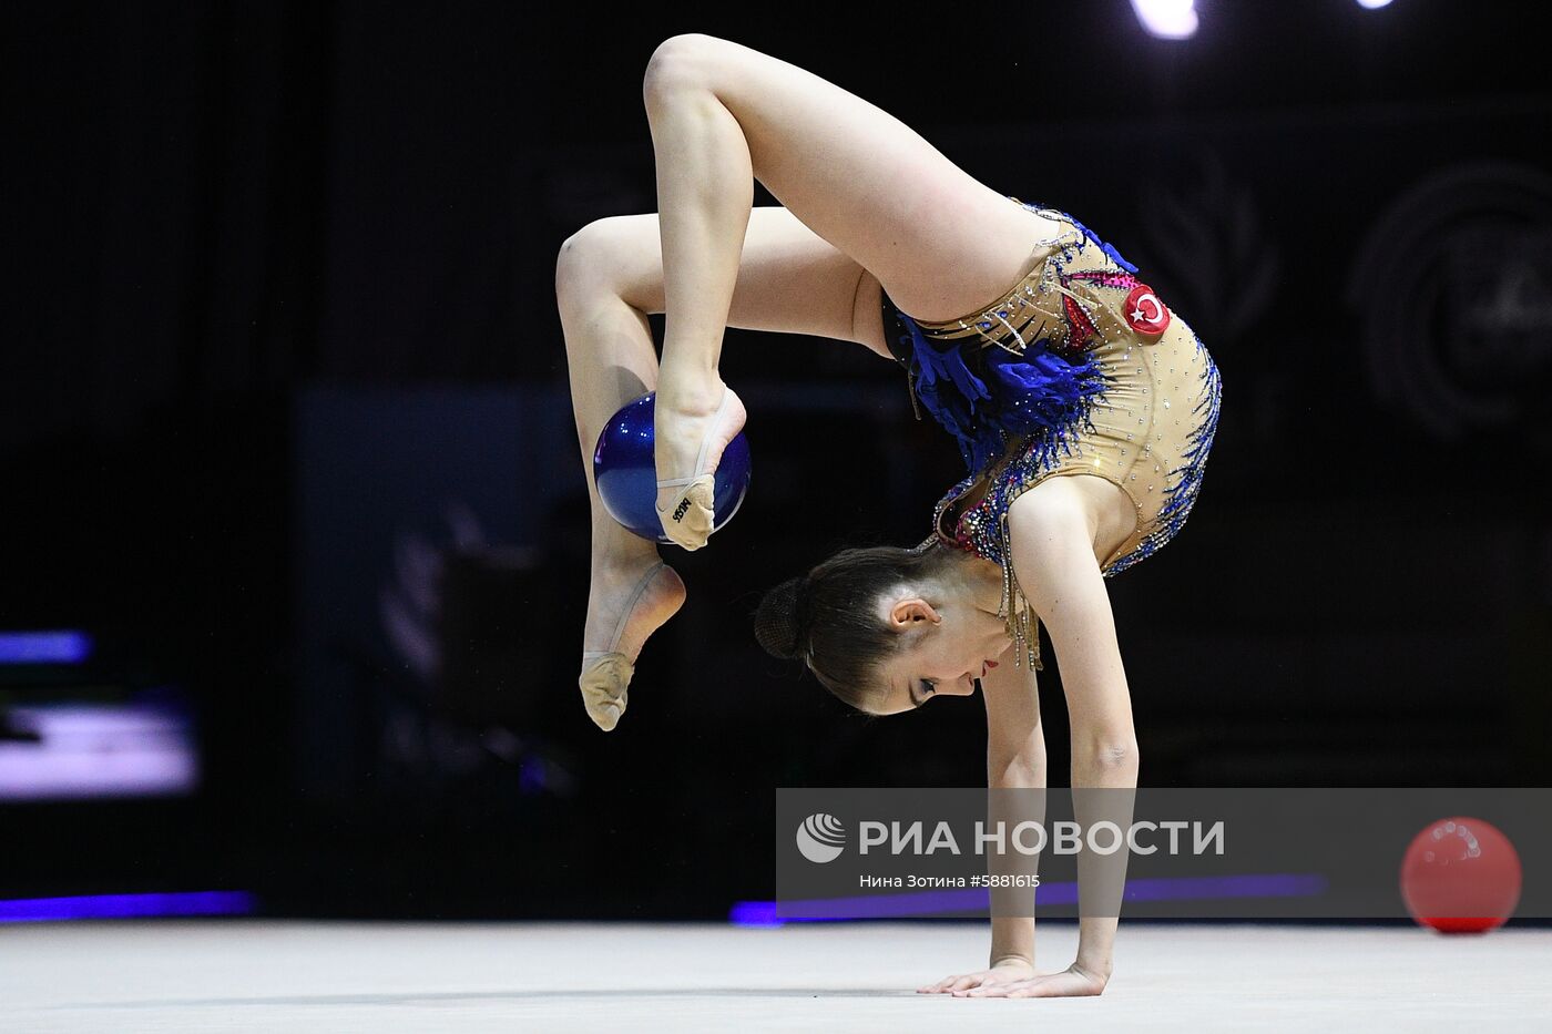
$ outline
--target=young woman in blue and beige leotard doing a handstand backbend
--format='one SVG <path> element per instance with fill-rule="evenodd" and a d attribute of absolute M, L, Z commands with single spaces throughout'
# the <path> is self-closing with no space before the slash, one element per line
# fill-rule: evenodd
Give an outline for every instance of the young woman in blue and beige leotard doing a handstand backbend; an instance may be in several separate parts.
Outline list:
<path fill-rule="evenodd" d="M 585 469 L 604 422 L 656 390 L 658 512 L 686 550 L 745 421 L 717 373 L 728 326 L 860 343 L 903 366 L 917 416 L 967 475 L 913 550 L 847 550 L 771 590 L 756 633 L 872 714 L 970 696 L 993 787 L 1043 787 L 1038 621 L 1062 658 L 1072 786 L 1135 787 L 1130 691 L 1103 579 L 1184 525 L 1220 377 L 1180 317 L 1082 224 L 982 186 L 909 127 L 790 64 L 677 36 L 647 64 L 658 214 L 590 224 L 560 250 Z M 753 180 L 782 202 L 753 208 Z M 649 314 L 666 314 L 661 362 Z M 1062 475 L 1062 477 L 1058 477 Z M 591 481 L 590 481 L 591 484 Z M 593 489 L 579 678 L 615 728 L 647 637 L 684 585 Z M 1034 969 L 1034 921 L 993 919 L 987 969 L 922 991 L 1099 994 L 1116 919 L 1082 919 L 1076 963 Z"/>

